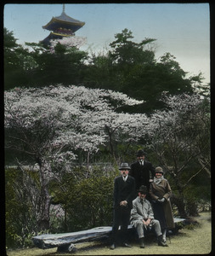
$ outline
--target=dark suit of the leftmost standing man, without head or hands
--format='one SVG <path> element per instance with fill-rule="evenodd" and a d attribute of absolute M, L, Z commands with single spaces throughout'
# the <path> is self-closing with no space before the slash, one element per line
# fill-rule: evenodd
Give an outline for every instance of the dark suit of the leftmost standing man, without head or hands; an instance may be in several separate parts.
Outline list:
<path fill-rule="evenodd" d="M 134 198 L 134 178 L 128 175 L 127 181 L 125 182 L 122 176 L 116 177 L 114 182 L 114 221 L 112 227 L 112 242 L 116 241 L 116 233 L 120 225 L 122 230 L 122 242 L 126 242 L 127 225 L 129 224 Z M 127 206 L 120 206 L 121 201 L 127 201 Z"/>

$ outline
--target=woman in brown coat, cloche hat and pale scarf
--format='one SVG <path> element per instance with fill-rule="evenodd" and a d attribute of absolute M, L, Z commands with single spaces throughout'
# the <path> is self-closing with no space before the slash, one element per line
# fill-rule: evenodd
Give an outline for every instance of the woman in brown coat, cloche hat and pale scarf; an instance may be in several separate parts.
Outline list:
<path fill-rule="evenodd" d="M 153 183 L 150 183 L 150 197 L 155 218 L 161 224 L 163 240 L 166 241 L 167 229 L 173 229 L 174 219 L 171 202 L 171 187 L 166 178 L 163 177 L 163 171 L 160 166 L 156 167 L 156 173 Z"/>

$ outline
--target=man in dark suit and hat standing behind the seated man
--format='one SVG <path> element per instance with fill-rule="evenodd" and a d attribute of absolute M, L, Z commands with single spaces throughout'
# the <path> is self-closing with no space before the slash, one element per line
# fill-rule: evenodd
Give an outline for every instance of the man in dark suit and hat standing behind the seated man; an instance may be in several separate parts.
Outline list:
<path fill-rule="evenodd" d="M 135 178 L 137 191 L 141 185 L 150 189 L 150 182 L 153 181 L 153 177 L 155 176 L 155 167 L 149 161 L 145 160 L 146 154 L 143 149 L 137 152 L 137 161 L 131 165 L 129 172 L 129 175 Z"/>

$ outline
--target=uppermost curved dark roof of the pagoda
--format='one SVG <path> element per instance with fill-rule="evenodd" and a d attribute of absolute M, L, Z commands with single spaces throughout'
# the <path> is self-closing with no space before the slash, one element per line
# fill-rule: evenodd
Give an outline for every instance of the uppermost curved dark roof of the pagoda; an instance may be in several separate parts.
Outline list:
<path fill-rule="evenodd" d="M 75 20 L 66 15 L 65 11 L 63 11 L 60 16 L 53 17 L 52 20 L 50 20 L 47 25 L 42 26 L 42 28 L 54 31 L 54 29 L 58 28 L 59 26 L 63 26 L 66 28 L 71 28 L 72 32 L 76 32 L 79 28 L 84 26 L 84 24 L 85 22 Z"/>

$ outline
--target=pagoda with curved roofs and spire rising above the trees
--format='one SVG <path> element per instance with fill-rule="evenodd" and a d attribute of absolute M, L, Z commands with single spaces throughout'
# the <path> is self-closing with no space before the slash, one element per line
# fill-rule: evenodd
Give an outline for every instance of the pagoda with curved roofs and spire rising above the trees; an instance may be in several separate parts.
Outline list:
<path fill-rule="evenodd" d="M 42 44 L 50 44 L 50 40 L 70 38 L 75 36 L 75 32 L 84 26 L 85 22 L 75 20 L 65 14 L 65 4 L 63 4 L 63 12 L 60 16 L 53 17 L 47 25 L 42 28 L 50 32 L 47 38 L 41 41 Z"/>

